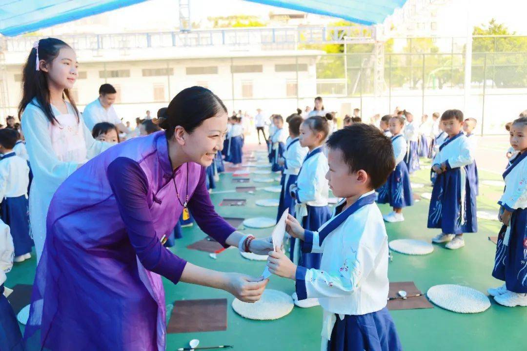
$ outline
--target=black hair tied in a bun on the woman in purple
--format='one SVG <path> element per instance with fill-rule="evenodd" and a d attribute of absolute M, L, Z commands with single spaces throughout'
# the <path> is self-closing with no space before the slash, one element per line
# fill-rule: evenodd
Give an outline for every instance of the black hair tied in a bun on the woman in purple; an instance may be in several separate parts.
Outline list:
<path fill-rule="evenodd" d="M 207 88 L 192 86 L 172 99 L 166 118 L 160 121 L 159 126 L 166 131 L 167 138 L 171 138 L 175 127 L 181 126 L 187 133 L 192 133 L 203 121 L 219 113 L 227 114 L 221 99 Z"/>

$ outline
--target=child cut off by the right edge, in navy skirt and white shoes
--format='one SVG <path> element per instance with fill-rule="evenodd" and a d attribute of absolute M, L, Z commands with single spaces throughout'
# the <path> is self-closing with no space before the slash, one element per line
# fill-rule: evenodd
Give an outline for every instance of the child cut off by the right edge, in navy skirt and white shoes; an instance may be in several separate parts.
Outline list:
<path fill-rule="evenodd" d="M 516 155 L 503 173 L 505 190 L 500 204 L 503 227 L 497 239 L 492 276 L 504 280 L 487 290 L 503 306 L 527 306 L 527 117 L 510 127 L 511 146 Z"/>

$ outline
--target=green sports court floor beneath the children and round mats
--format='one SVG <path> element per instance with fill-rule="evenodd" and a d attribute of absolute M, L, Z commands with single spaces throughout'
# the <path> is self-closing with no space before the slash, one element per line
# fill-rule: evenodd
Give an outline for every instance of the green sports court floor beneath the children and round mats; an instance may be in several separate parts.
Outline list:
<path fill-rule="evenodd" d="M 422 159 L 422 161 L 425 161 Z M 498 175 L 504 167 L 496 162 L 496 172 L 480 171 L 480 196 L 478 209 L 497 213 L 497 199 L 502 187 L 481 184 L 482 180 L 500 180 Z M 426 162 L 421 171 L 412 176 L 413 183 L 425 184 L 414 192 L 430 193 L 430 163 Z M 251 175 L 250 178 L 261 177 Z M 276 177 L 277 175 L 272 175 Z M 276 217 L 276 207 L 259 207 L 255 201 L 261 198 L 278 197 L 276 193 L 258 190 L 256 194 L 225 192 L 238 186 L 253 185 L 263 188 L 278 185 L 278 182 L 236 184 L 231 174 L 220 175 L 220 182 L 211 198 L 217 206 L 217 212 L 226 217 Z M 223 198 L 246 198 L 244 207 L 218 206 Z M 421 199 L 413 207 L 404 210 L 405 221 L 386 224 L 388 240 L 397 238 L 415 238 L 430 240 L 437 229 L 427 229 L 428 200 Z M 387 205 L 381 205 L 383 213 L 389 212 Z M 502 283 L 491 276 L 495 245 L 487 237 L 496 235 L 500 224 L 495 220 L 478 219 L 479 233 L 465 235 L 465 247 L 448 250 L 443 245 L 434 245 L 435 250 L 426 256 L 407 256 L 393 253 L 393 262 L 389 264 L 389 279 L 392 282 L 413 280 L 423 292 L 437 284 L 461 284 L 486 293 L 491 286 Z M 270 234 L 270 229 L 246 229 L 242 232 L 257 237 Z M 183 228 L 183 238 L 176 241 L 171 250 L 193 264 L 225 272 L 241 272 L 259 276 L 265 262 L 255 262 L 242 258 L 235 248 L 227 249 L 217 255 L 217 259 L 208 253 L 187 249 L 187 245 L 202 239 L 205 235 L 194 225 Z M 6 286 L 32 284 L 35 271 L 35 259 L 15 264 L 7 275 Z M 295 307 L 284 318 L 274 321 L 249 320 L 237 315 L 230 303 L 233 297 L 221 290 L 179 283 L 173 285 L 164 279 L 167 305 L 179 299 L 227 298 L 228 327 L 225 332 L 204 332 L 187 334 L 168 334 L 167 350 L 177 350 L 188 346 L 190 339 L 200 339 L 200 346 L 234 345 L 237 350 L 309 350 L 320 349 L 321 309 L 314 307 L 301 309 Z M 287 294 L 294 291 L 294 282 L 289 279 L 272 276 L 268 288 L 281 290 Z M 479 314 L 457 314 L 435 306 L 433 309 L 397 310 L 392 312 L 399 336 L 405 350 L 520 350 L 524 349 L 521 340 L 525 335 L 527 308 L 503 307 L 491 299 L 491 307 Z M 171 306 L 169 306 L 170 309 Z"/>

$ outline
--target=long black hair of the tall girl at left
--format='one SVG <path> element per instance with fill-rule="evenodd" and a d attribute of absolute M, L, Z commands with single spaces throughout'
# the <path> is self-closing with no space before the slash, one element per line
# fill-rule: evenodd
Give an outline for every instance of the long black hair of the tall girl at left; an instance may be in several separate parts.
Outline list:
<path fill-rule="evenodd" d="M 71 48 L 70 45 L 67 45 L 60 39 L 46 38 L 38 41 L 37 48 L 31 49 L 30 55 L 27 57 L 26 64 L 22 71 L 22 100 L 18 105 L 18 119 L 22 117 L 24 110 L 27 105 L 31 103 L 33 98 L 36 98 L 38 107 L 42 109 L 48 121 L 50 121 L 51 124 L 58 123 L 53 114 L 53 109 L 51 108 L 47 73 L 42 71 L 42 69 L 38 71 L 36 70 L 36 57 L 38 49 L 38 59 L 40 61 L 43 60 L 50 65 L 63 47 Z M 77 110 L 77 106 L 75 105 L 73 97 L 68 89 L 64 89 L 63 98 L 67 98 L 72 105 L 77 116 L 77 123 L 79 123 L 79 110 Z"/>

